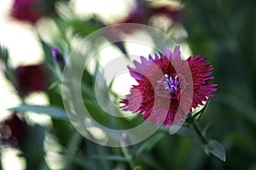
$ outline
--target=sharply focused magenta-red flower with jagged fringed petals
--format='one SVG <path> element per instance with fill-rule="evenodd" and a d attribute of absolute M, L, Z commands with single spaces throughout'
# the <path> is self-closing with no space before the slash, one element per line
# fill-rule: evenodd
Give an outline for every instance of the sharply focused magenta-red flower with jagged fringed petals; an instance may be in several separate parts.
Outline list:
<path fill-rule="evenodd" d="M 143 113 L 143 119 L 170 127 L 180 124 L 192 108 L 203 105 L 217 84 L 209 84 L 212 65 L 196 55 L 182 59 L 179 46 L 173 52 L 166 48 L 164 54 L 153 59 L 141 56 L 142 63 L 134 61 L 135 68 L 128 66 L 131 77 L 137 81 L 130 94 L 120 103 L 124 111 Z"/>

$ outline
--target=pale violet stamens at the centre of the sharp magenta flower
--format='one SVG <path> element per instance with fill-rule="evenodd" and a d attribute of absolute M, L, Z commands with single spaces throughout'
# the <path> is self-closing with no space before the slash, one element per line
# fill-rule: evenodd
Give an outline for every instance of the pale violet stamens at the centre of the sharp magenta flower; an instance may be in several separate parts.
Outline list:
<path fill-rule="evenodd" d="M 168 90 L 171 94 L 176 94 L 177 90 L 179 88 L 179 82 L 177 80 L 177 75 L 172 78 L 172 77 L 168 77 L 167 74 L 165 74 L 166 77 L 166 81 L 164 82 L 164 87 L 166 88 L 166 90 Z"/>

